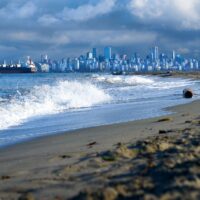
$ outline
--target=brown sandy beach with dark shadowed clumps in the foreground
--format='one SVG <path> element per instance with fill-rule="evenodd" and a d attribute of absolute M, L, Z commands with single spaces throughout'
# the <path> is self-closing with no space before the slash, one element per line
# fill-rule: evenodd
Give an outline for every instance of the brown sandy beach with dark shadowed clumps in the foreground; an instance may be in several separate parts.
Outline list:
<path fill-rule="evenodd" d="M 3 148 L 0 199 L 199 199 L 199 108 Z"/>

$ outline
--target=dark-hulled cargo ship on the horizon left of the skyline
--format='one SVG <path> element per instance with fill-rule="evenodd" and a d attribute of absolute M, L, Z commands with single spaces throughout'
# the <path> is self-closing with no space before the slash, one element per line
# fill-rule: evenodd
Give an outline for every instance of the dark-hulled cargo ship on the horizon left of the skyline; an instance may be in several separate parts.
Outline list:
<path fill-rule="evenodd" d="M 9 64 L 7 65 L 4 61 L 3 65 L 0 65 L 0 73 L 2 74 L 14 74 L 14 73 L 35 73 L 37 68 L 34 62 L 28 57 L 27 61 L 24 64 L 20 62 L 18 64 Z"/>

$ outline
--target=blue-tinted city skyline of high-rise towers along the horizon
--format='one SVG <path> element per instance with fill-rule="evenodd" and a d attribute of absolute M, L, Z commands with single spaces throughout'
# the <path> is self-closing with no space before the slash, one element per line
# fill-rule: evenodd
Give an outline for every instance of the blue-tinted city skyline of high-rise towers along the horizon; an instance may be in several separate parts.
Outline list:
<path fill-rule="evenodd" d="M 48 55 L 41 55 L 39 62 L 34 62 L 38 72 L 154 72 L 154 71 L 196 71 L 200 62 L 196 59 L 186 59 L 175 51 L 171 55 L 159 53 L 158 47 L 153 47 L 145 58 L 137 53 L 127 55 L 113 54 L 111 47 L 105 47 L 103 54 L 98 54 L 93 48 L 85 55 L 75 58 L 51 60 Z"/>

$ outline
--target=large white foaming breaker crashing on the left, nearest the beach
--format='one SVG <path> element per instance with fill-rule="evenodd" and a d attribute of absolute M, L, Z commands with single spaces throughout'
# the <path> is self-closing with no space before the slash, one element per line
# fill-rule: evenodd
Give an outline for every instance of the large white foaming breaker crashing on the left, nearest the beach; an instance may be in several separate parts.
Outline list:
<path fill-rule="evenodd" d="M 35 86 L 27 94 L 13 97 L 0 105 L 0 129 L 19 125 L 31 117 L 91 107 L 108 102 L 111 97 L 89 82 L 59 81 L 53 86 Z"/>

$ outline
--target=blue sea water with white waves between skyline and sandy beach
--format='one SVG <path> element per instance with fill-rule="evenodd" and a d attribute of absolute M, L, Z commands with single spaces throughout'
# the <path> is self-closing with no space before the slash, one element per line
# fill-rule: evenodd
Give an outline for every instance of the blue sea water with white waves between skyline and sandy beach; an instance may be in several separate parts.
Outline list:
<path fill-rule="evenodd" d="M 0 147 L 38 136 L 165 115 L 200 82 L 110 74 L 0 75 Z"/>

